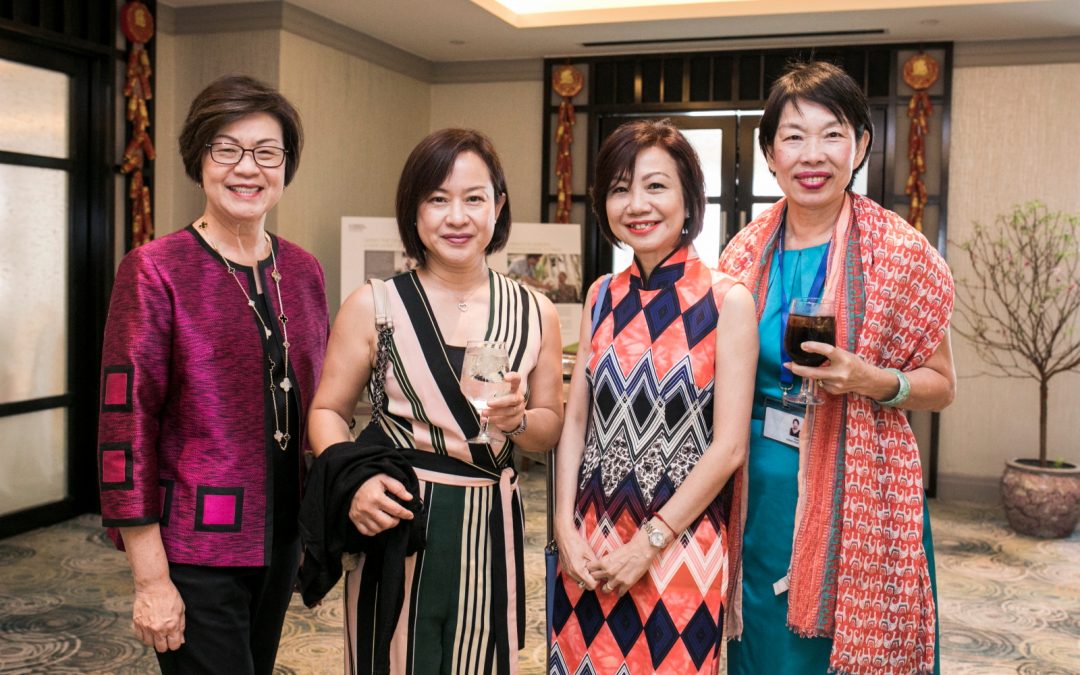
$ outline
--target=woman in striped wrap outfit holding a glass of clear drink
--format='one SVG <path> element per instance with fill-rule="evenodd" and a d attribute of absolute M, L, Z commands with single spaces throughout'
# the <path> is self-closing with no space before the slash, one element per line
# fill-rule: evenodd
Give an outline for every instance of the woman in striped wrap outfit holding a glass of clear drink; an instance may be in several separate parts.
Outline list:
<path fill-rule="evenodd" d="M 424 548 L 404 565 L 404 600 L 389 644 L 391 673 L 512 673 L 524 632 L 523 513 L 513 448 L 552 447 L 562 427 L 561 339 L 543 295 L 490 270 L 486 256 L 510 234 L 505 178 L 490 141 L 467 130 L 423 139 L 397 187 L 397 226 L 417 269 L 387 282 L 393 339 L 384 400 L 362 441 L 397 448 L 418 495 L 386 474 L 355 491 L 349 517 L 375 537 L 413 512 L 427 517 Z M 375 305 L 365 285 L 342 305 L 311 414 L 316 451 L 348 442 L 353 408 L 372 382 Z M 511 393 L 486 414 L 489 444 L 468 443 L 481 417 L 461 393 L 464 346 L 500 340 L 510 355 Z M 334 448 L 329 448 L 330 451 Z M 329 453 L 327 453 L 329 455 Z M 346 578 L 347 672 L 379 672 L 369 626 L 380 620 L 380 569 Z"/>

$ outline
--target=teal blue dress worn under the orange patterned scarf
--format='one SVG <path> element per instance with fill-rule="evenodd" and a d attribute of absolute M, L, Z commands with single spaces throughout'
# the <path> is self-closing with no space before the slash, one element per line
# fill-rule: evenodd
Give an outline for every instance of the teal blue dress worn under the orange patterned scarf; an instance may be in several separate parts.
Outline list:
<path fill-rule="evenodd" d="M 784 291 L 788 298 L 806 295 L 825 254 L 826 244 L 786 251 Z M 772 270 L 779 269 L 773 258 Z M 795 532 L 795 503 L 798 498 L 798 448 L 761 435 L 765 396 L 780 399 L 780 286 L 778 274 L 769 278 L 765 309 L 758 323 L 760 348 L 754 387 L 747 467 L 746 527 L 743 532 L 743 635 L 728 643 L 729 675 L 818 675 L 828 672 L 833 640 L 828 637 L 799 637 L 787 629 L 787 594 L 773 593 L 773 583 L 787 575 Z M 800 384 L 795 378 L 794 386 Z M 922 543 L 930 565 L 930 583 L 937 591 L 934 575 L 930 515 L 923 507 Z M 940 672 L 934 649 L 934 673 Z"/>

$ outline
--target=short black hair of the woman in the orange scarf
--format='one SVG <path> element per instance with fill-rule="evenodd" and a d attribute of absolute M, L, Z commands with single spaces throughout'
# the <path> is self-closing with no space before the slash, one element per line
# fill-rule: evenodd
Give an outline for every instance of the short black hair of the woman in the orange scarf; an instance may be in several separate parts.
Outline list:
<path fill-rule="evenodd" d="M 823 60 L 795 63 L 787 67 L 769 90 L 765 112 L 758 127 L 757 143 L 765 157 L 772 156 L 772 141 L 777 138 L 780 117 L 787 104 L 799 109 L 800 100 L 809 100 L 826 108 L 836 119 L 850 124 L 855 130 L 855 143 L 869 132 L 869 143 L 863 160 L 851 172 L 848 189 L 855 183 L 855 174 L 866 165 L 874 147 L 874 122 L 866 95 L 859 84 L 839 66 Z"/>

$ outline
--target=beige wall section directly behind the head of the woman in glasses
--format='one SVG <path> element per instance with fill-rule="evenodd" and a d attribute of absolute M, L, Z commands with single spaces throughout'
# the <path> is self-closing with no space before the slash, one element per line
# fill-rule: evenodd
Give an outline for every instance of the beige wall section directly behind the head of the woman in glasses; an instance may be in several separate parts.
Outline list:
<path fill-rule="evenodd" d="M 158 237 L 186 227 L 203 211 L 203 193 L 184 173 L 176 137 L 191 99 L 207 84 L 226 75 L 248 75 L 270 84 L 278 82 L 281 32 L 214 32 L 171 36 L 158 43 L 154 197 Z M 275 214 L 267 225 L 272 229 Z"/>

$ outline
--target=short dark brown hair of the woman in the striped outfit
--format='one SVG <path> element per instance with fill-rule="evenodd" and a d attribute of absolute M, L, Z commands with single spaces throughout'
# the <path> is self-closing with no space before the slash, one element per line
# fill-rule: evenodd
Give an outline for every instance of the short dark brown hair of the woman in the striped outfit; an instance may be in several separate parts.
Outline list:
<path fill-rule="evenodd" d="M 496 202 L 499 197 L 505 197 L 502 211 L 495 221 L 495 233 L 484 253 L 490 255 L 502 249 L 510 239 L 510 193 L 507 191 L 507 176 L 502 173 L 502 164 L 491 139 L 471 129 L 444 129 L 429 134 L 413 148 L 397 181 L 397 232 L 405 245 L 405 253 L 416 258 L 420 265 L 424 264 L 427 255 L 416 227 L 417 211 L 420 202 L 443 185 L 454 171 L 454 162 L 462 152 L 474 152 L 487 164 Z"/>

